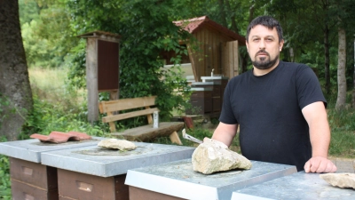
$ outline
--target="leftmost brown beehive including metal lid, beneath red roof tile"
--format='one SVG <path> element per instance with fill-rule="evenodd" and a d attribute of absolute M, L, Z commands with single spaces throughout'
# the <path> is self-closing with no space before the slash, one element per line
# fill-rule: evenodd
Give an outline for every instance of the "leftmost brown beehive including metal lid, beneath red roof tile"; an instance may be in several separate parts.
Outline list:
<path fill-rule="evenodd" d="M 100 138 L 61 144 L 39 140 L 0 143 L 0 154 L 10 157 L 12 199 L 59 199 L 57 168 L 41 164 L 41 153 L 51 150 L 96 146 Z"/>

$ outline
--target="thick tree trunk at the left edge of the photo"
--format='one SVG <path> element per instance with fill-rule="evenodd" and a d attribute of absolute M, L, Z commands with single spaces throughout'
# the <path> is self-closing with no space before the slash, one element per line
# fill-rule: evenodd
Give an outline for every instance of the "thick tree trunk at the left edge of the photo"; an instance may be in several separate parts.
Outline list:
<path fill-rule="evenodd" d="M 17 140 L 33 108 L 17 0 L 0 0 L 0 136 Z"/>

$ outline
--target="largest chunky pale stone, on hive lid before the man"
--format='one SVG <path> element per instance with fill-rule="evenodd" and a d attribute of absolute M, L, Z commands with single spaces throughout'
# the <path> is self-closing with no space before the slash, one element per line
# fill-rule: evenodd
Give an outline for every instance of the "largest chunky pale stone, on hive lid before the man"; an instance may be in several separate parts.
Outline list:
<path fill-rule="evenodd" d="M 250 169 L 248 158 L 230 150 L 217 140 L 204 140 L 193 151 L 193 170 L 204 174 L 233 169 Z"/>

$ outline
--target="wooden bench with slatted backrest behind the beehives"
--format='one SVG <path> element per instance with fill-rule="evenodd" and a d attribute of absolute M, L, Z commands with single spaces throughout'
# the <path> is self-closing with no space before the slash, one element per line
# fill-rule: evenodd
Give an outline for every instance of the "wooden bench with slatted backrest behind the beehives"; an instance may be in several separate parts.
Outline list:
<path fill-rule="evenodd" d="M 99 102 L 99 111 L 101 114 L 106 114 L 102 117 L 102 122 L 110 125 L 111 134 L 115 137 L 123 136 L 125 140 L 131 141 L 147 141 L 156 137 L 170 136 L 171 142 L 182 145 L 177 132 L 184 128 L 182 122 L 161 122 L 158 128 L 153 127 L 154 111 L 159 111 L 155 106 L 156 96 L 140 97 L 122 100 L 108 100 Z M 122 110 L 133 108 L 144 108 L 126 113 L 116 114 Z M 116 132 L 114 122 L 136 116 L 146 116 L 148 124 L 136 128 L 125 130 L 124 132 Z"/>

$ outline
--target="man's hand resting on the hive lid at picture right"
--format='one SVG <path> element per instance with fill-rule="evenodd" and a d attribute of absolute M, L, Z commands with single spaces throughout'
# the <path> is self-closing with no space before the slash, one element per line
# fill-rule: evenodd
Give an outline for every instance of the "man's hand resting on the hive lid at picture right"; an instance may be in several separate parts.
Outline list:
<path fill-rule="evenodd" d="M 314 156 L 304 164 L 304 172 L 336 172 L 336 166 L 325 157 Z"/>

